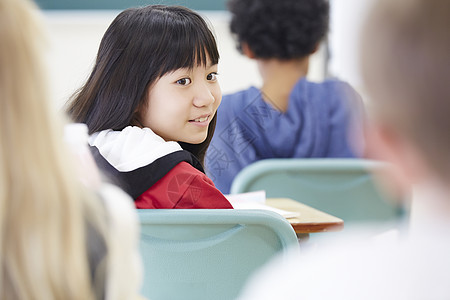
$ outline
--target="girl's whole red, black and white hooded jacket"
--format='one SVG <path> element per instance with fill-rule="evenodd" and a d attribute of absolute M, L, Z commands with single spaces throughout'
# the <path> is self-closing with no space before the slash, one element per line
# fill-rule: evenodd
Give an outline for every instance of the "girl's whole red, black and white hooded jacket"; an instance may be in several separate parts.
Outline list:
<path fill-rule="evenodd" d="M 90 143 L 100 169 L 137 208 L 233 208 L 191 152 L 150 128 L 103 130 Z"/>

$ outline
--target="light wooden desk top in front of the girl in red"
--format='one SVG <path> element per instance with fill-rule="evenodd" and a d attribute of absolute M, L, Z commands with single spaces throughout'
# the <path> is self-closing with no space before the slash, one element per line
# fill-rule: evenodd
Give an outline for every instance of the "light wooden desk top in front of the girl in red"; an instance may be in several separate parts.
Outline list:
<path fill-rule="evenodd" d="M 289 198 L 268 198 L 266 204 L 275 208 L 299 212 L 295 218 L 287 219 L 296 233 L 339 231 L 344 221 Z"/>

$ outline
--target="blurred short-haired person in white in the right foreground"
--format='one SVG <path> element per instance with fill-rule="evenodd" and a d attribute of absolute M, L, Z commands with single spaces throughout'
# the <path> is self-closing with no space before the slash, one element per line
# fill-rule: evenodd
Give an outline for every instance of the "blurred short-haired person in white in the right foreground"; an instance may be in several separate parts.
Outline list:
<path fill-rule="evenodd" d="M 447 0 L 379 0 L 363 30 L 367 147 L 413 186 L 409 226 L 274 261 L 240 300 L 450 298 L 449 28 Z"/>

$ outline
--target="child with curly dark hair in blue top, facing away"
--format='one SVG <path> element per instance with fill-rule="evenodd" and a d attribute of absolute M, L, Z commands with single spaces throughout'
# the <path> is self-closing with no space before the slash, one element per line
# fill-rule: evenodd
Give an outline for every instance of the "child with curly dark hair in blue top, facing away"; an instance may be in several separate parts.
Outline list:
<path fill-rule="evenodd" d="M 354 157 L 347 134 L 359 96 L 338 80 L 306 79 L 310 56 L 328 31 L 328 1 L 228 6 L 238 48 L 256 60 L 263 84 L 223 97 L 206 156 L 216 186 L 228 193 L 234 176 L 261 159 Z"/>

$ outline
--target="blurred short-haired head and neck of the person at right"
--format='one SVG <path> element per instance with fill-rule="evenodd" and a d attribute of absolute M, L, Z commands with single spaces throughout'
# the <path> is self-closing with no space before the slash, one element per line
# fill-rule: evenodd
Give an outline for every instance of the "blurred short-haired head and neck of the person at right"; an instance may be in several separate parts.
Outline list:
<path fill-rule="evenodd" d="M 401 186 L 450 182 L 449 28 L 448 0 L 380 0 L 363 31 L 369 147 Z"/>

